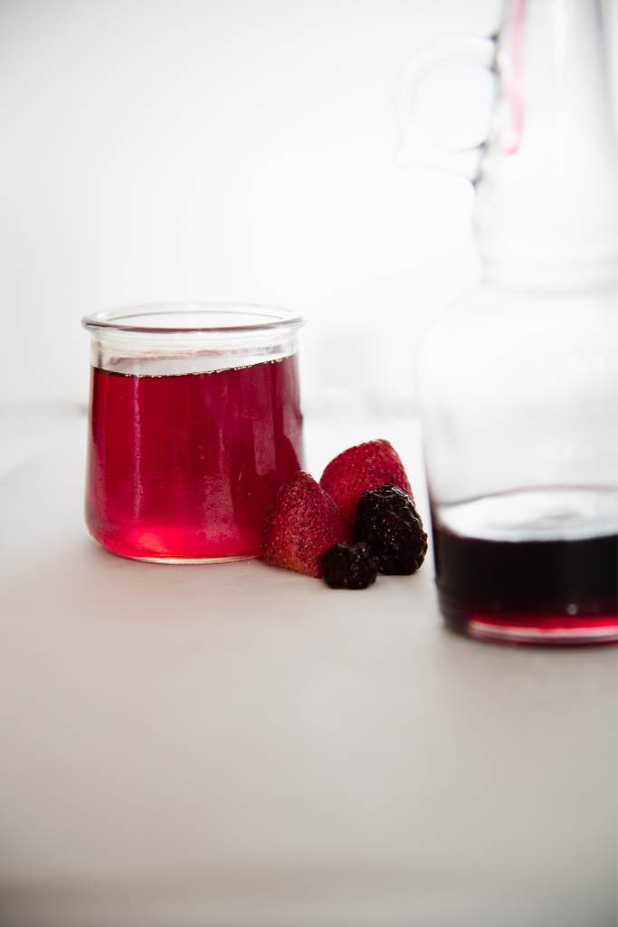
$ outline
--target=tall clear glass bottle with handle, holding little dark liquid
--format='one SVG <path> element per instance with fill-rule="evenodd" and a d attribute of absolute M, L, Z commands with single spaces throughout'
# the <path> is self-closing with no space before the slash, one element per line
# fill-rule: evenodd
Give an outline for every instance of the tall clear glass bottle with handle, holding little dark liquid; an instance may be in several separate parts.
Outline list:
<path fill-rule="evenodd" d="M 441 151 L 410 117 L 427 70 L 496 75 L 486 142 Z M 435 577 L 474 638 L 618 641 L 618 149 L 595 0 L 511 0 L 498 38 L 450 39 L 400 87 L 415 159 L 473 181 L 481 286 L 418 357 Z"/>

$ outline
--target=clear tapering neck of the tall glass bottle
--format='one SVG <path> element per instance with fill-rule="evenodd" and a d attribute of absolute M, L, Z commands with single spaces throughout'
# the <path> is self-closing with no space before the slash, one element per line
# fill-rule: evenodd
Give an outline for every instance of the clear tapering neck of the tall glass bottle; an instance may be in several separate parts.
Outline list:
<path fill-rule="evenodd" d="M 476 181 L 487 279 L 586 285 L 615 275 L 618 148 L 598 0 L 511 0 Z"/>

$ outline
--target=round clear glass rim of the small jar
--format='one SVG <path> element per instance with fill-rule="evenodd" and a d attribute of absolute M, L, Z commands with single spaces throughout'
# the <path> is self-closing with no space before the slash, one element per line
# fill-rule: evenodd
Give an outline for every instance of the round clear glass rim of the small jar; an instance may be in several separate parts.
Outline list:
<path fill-rule="evenodd" d="M 182 319 L 185 324 L 180 324 Z M 296 330 L 304 324 L 296 312 L 248 302 L 142 303 L 92 312 L 82 318 L 89 331 L 136 335 L 251 334 Z"/>

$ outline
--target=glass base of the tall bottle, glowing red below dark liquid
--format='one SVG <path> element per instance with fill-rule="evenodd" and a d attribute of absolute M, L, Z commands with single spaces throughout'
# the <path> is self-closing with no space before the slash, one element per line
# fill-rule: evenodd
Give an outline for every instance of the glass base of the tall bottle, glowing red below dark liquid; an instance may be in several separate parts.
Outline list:
<path fill-rule="evenodd" d="M 441 590 L 438 602 L 448 628 L 475 641 L 545 647 L 618 643 L 615 613 L 489 611 L 462 606 Z"/>

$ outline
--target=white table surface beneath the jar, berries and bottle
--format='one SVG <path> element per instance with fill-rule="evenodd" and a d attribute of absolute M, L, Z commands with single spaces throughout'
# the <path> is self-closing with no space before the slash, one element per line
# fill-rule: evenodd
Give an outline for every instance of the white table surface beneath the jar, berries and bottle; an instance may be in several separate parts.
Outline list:
<path fill-rule="evenodd" d="M 370 590 L 111 556 L 84 420 L 6 409 L 0 924 L 614 927 L 614 649 L 442 628 Z M 308 423 L 314 473 L 413 422 Z"/>

